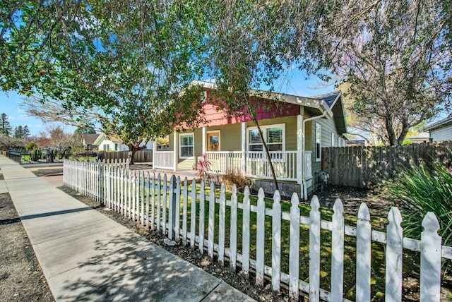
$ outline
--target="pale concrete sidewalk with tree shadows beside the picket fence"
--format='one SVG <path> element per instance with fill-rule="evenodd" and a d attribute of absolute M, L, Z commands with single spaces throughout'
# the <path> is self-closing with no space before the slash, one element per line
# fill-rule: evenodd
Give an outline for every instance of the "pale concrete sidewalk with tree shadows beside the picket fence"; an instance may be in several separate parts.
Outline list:
<path fill-rule="evenodd" d="M 55 300 L 253 301 L 1 155 L 0 169 Z"/>

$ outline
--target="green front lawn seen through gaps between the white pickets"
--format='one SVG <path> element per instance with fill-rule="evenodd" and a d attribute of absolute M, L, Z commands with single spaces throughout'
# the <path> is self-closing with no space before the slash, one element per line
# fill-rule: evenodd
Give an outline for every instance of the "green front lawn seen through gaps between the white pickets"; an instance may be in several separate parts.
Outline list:
<path fill-rule="evenodd" d="M 187 231 L 190 231 L 190 217 L 191 217 L 191 184 L 187 186 L 189 197 L 187 204 Z M 182 190 L 183 182 L 182 182 Z M 137 188 L 138 190 L 138 188 Z M 201 188 L 199 185 L 196 186 L 197 193 L 201 192 Z M 147 192 L 145 192 L 147 194 Z M 208 195 L 210 194 L 210 188 L 206 188 L 206 202 L 204 209 L 204 217 L 205 217 L 205 230 L 204 230 L 204 238 L 208 238 L 208 212 L 209 212 L 209 203 L 208 203 Z M 220 197 L 220 189 L 215 189 L 215 196 L 217 198 Z M 162 194 L 161 194 L 162 197 Z M 226 192 L 227 200 L 231 199 L 231 193 Z M 242 203 L 244 195 L 242 193 L 237 194 L 237 201 Z M 251 195 L 250 201 L 251 205 L 257 205 L 257 196 Z M 266 198 L 265 199 L 266 207 L 271 208 L 273 204 L 273 200 Z M 290 201 L 283 200 L 281 202 L 281 209 L 283 212 L 290 212 Z M 169 196 L 167 196 L 167 209 L 169 207 Z M 183 209 L 183 195 L 181 194 L 181 215 L 180 215 L 180 228 L 182 229 L 182 209 Z M 215 243 L 218 243 L 218 225 L 219 225 L 219 207 L 220 205 L 215 204 Z M 306 217 L 309 217 L 310 207 L 307 205 L 300 204 L 299 205 L 300 214 Z M 141 210 L 141 209 L 140 209 Z M 333 211 L 321 209 L 321 219 L 331 221 Z M 155 215 L 157 212 L 155 211 Z M 162 215 L 162 214 L 161 214 Z M 167 210 L 167 219 L 168 219 L 168 210 Z M 230 247 L 230 216 L 231 210 L 230 207 L 226 207 L 226 234 L 225 234 L 225 248 Z M 250 258 L 256 259 L 256 213 L 250 213 Z M 237 252 L 242 253 L 242 225 L 243 225 L 243 211 L 241 209 L 237 210 Z M 357 217 L 352 215 L 345 215 L 345 224 L 350 226 L 356 226 Z M 371 217 L 371 226 L 374 230 L 385 231 L 387 219 L 385 217 Z M 265 264 L 271 266 L 271 224 L 272 217 L 266 216 L 265 225 L 265 238 L 266 238 L 266 249 L 265 249 Z M 199 200 L 196 200 L 196 235 L 199 234 L 198 231 L 199 226 Z M 281 255 L 281 271 L 285 273 L 289 273 L 289 232 L 290 232 L 290 222 L 286 220 L 282 220 L 281 222 L 281 247 L 282 247 L 282 255 Z M 309 226 L 300 225 L 300 248 L 299 248 L 299 279 L 309 282 Z M 355 246 L 356 246 L 356 237 L 355 236 L 345 236 L 345 255 L 344 255 L 344 293 L 345 298 L 355 300 Z M 372 296 L 374 297 L 374 301 L 383 301 L 383 292 L 385 288 L 385 254 L 384 254 L 384 246 L 381 243 L 372 243 L 372 262 L 371 262 L 371 284 L 372 284 Z M 321 288 L 327 291 L 330 291 L 330 282 L 331 282 L 331 231 L 321 230 Z M 413 255 L 408 255 L 407 260 L 410 260 Z M 405 263 L 412 263 L 413 261 L 405 261 Z M 410 267 L 408 267 L 410 269 Z"/>

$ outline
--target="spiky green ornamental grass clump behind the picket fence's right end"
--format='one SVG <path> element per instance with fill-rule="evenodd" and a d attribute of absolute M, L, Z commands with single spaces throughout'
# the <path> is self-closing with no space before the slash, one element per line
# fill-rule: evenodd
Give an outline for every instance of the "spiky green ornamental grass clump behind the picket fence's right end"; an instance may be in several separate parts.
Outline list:
<path fill-rule="evenodd" d="M 404 237 L 420 238 L 422 219 L 427 212 L 434 212 L 442 244 L 452 246 L 452 174 L 444 164 L 436 162 L 432 169 L 404 169 L 388 183 L 388 194 L 400 201 Z"/>

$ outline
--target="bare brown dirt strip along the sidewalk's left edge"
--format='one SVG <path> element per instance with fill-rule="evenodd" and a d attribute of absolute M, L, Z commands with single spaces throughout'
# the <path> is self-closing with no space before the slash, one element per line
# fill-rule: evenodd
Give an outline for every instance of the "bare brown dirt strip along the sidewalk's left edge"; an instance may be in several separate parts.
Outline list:
<path fill-rule="evenodd" d="M 54 301 L 8 193 L 0 194 L 0 301 Z"/>

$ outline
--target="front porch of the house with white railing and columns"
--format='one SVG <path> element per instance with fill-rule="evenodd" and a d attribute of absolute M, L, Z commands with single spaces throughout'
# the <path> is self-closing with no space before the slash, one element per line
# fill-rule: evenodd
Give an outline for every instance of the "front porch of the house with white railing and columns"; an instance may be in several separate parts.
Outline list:
<path fill-rule="evenodd" d="M 299 120 L 299 123 L 302 123 L 301 116 L 299 116 Z M 233 130 L 225 131 L 224 129 L 221 132 L 223 140 L 226 140 L 226 135 L 234 137 L 236 141 L 238 140 L 236 143 L 240 146 L 239 150 L 237 150 L 238 148 L 236 150 L 219 150 L 220 147 L 218 147 L 218 150 L 212 150 L 217 147 L 216 145 L 220 144 L 220 138 L 215 137 L 213 134 L 218 133 L 220 135 L 220 131 L 215 132 L 210 130 L 211 128 L 215 127 L 206 126 L 196 129 L 192 136 L 190 136 L 191 133 L 174 131 L 170 139 L 172 143 L 169 145 L 169 150 L 161 150 L 162 148 L 157 147 L 157 142 L 155 142 L 153 167 L 171 171 L 195 172 L 196 164 L 201 160 L 203 153 L 206 153 L 206 157 L 211 164 L 210 174 L 222 175 L 228 171 L 239 171 L 251 179 L 273 179 L 266 152 L 264 150 L 249 150 L 252 148 L 258 149 L 258 146 L 250 144 L 250 141 L 252 141 L 249 134 L 251 133 L 251 127 L 247 126 L 246 122 L 242 122 L 241 131 L 238 133 Z M 294 132 L 301 132 L 301 127 L 299 131 Z M 278 181 L 290 181 L 298 184 L 302 184 L 305 181 L 306 186 L 310 187 L 312 179 L 312 151 L 304 150 L 301 141 L 302 137 L 301 133 L 299 133 L 297 138 L 293 138 L 294 143 L 292 145 L 297 147 L 297 150 L 285 150 L 286 145 L 290 144 L 286 143 L 289 138 L 284 138 L 280 140 L 281 145 L 284 144 L 284 147 L 278 147 L 275 144 L 272 146 L 273 150 L 269 153 Z M 221 147 L 225 148 L 227 147 L 226 145 L 226 143 L 223 143 Z M 272 147 L 270 147 L 270 150 Z M 304 158 L 302 158 L 302 155 Z M 187 160 L 190 161 L 189 164 L 183 162 Z"/>

